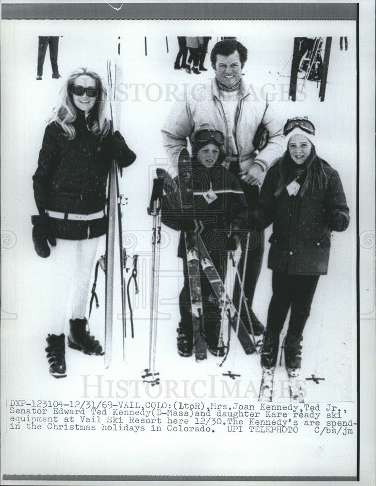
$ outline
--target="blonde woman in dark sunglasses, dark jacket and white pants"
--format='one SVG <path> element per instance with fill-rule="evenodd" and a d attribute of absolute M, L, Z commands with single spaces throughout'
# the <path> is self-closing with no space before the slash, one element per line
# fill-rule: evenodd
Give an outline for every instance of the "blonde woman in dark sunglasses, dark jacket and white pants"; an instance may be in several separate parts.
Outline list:
<path fill-rule="evenodd" d="M 111 161 L 127 167 L 136 158 L 105 115 L 107 92 L 97 73 L 79 69 L 66 80 L 46 127 L 33 175 L 32 216 L 36 253 L 50 257 L 55 301 L 46 347 L 49 372 L 66 376 L 65 309 L 71 288 L 68 346 L 103 355 L 85 318 L 90 277 L 99 238 L 107 231 L 107 177 Z M 52 248 L 49 247 L 49 244 Z M 55 273 L 54 273 L 55 272 Z"/>

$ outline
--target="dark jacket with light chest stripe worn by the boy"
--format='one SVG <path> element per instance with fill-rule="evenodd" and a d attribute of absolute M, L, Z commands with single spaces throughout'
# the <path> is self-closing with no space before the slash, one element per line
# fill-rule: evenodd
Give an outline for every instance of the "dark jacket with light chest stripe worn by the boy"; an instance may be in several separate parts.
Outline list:
<path fill-rule="evenodd" d="M 163 197 L 162 221 L 166 226 L 182 229 L 184 223 L 191 222 L 193 217 L 203 224 L 201 238 L 209 253 L 223 251 L 229 228 L 243 227 L 247 219 L 247 204 L 242 189 L 236 177 L 222 165 L 211 168 L 204 167 L 195 156 L 192 157 L 194 179 L 195 213 L 187 212 L 185 217 L 179 214 L 179 208 L 174 209 L 165 195 Z M 176 179 L 178 183 L 178 180 Z M 208 202 L 204 194 L 212 187 L 216 198 Z M 178 257 L 185 258 L 185 243 L 180 234 Z"/>

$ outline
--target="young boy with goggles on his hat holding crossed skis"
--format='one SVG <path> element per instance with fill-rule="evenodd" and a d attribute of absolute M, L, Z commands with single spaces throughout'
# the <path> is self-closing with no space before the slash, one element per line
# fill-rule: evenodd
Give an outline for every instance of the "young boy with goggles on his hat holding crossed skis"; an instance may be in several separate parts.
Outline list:
<path fill-rule="evenodd" d="M 221 165 L 226 156 L 223 142 L 223 133 L 212 126 L 201 126 L 191 137 L 194 217 L 189 218 L 186 214 L 181 217 L 180 208 L 174 204 L 176 197 L 171 197 L 169 194 L 164 196 L 162 207 L 162 221 L 169 227 L 187 230 L 194 229 L 196 223 L 200 224 L 203 228 L 200 236 L 222 279 L 228 250 L 237 248 L 239 240 L 235 233 L 247 218 L 247 205 L 239 182 L 226 167 Z M 179 298 L 178 353 L 180 356 L 187 357 L 192 356 L 193 329 L 183 233 L 180 234 L 178 257 L 183 259 L 184 270 L 184 285 Z M 223 343 L 218 343 L 221 309 L 212 286 L 203 272 L 200 280 L 208 348 L 215 356 L 223 356 Z"/>

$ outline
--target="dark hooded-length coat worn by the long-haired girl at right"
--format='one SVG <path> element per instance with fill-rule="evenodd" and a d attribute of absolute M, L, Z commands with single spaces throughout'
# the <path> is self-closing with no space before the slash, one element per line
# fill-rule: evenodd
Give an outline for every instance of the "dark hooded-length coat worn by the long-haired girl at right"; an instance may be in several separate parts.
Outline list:
<path fill-rule="evenodd" d="M 275 196 L 278 187 L 281 159 L 265 177 L 254 217 L 262 228 L 273 223 L 268 268 L 296 275 L 326 275 L 330 251 L 330 216 L 335 210 L 343 215 L 346 229 L 349 208 L 340 176 L 322 161 L 327 175 L 327 187 L 320 189 L 317 181 L 301 195 L 306 172 L 297 182 L 301 187 L 296 196 L 289 196 L 286 187 Z M 291 167 L 289 182 L 295 178 Z"/>

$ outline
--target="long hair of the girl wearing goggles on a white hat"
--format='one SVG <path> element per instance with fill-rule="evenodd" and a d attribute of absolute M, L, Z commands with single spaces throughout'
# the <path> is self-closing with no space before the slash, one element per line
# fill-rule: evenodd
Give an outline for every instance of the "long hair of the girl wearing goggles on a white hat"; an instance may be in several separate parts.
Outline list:
<path fill-rule="evenodd" d="M 279 196 L 283 188 L 293 180 L 292 175 L 294 174 L 294 161 L 290 156 L 288 147 L 286 152 L 277 160 L 276 163 L 278 164 L 279 180 L 277 191 L 274 193 L 274 195 Z M 313 191 L 315 184 L 317 184 L 319 189 L 326 189 L 327 174 L 324 171 L 323 160 L 316 154 L 316 149 L 312 142 L 311 154 L 305 161 L 305 166 L 307 175 L 302 188 L 299 191 L 300 196 L 305 193 L 308 187 L 311 187 L 311 191 Z"/>

